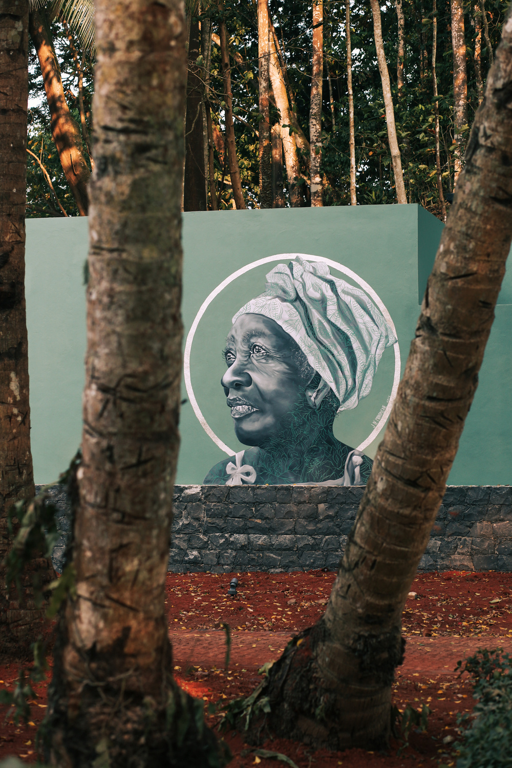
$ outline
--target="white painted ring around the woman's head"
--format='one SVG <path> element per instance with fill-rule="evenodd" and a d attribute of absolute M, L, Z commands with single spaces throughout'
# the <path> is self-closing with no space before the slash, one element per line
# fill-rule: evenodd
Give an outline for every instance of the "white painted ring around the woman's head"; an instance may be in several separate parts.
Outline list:
<path fill-rule="evenodd" d="M 359 277 L 355 272 L 352 272 L 352 270 L 349 270 L 347 266 L 343 266 L 342 264 L 339 264 L 337 261 L 333 261 L 332 259 L 327 259 L 323 256 L 311 256 L 308 253 L 278 253 L 276 256 L 267 256 L 264 259 L 258 259 L 257 261 L 252 261 L 250 264 L 246 264 L 246 266 L 242 266 L 239 270 L 236 270 L 236 272 L 233 272 L 230 274 L 230 276 L 226 277 L 226 280 L 223 280 L 222 283 L 219 283 L 216 288 L 213 289 L 213 291 L 206 296 L 206 299 L 203 301 L 203 303 L 200 306 L 200 309 L 195 316 L 192 326 L 190 327 L 190 331 L 187 335 L 187 342 L 185 343 L 185 353 L 183 356 L 183 376 L 185 379 L 185 386 L 187 388 L 187 395 L 189 396 L 190 405 L 193 407 L 193 412 L 197 416 L 197 420 L 200 422 L 200 425 L 203 427 L 204 431 L 206 432 L 206 435 L 208 435 L 213 442 L 219 446 L 221 450 L 223 450 L 224 453 L 226 453 L 228 456 L 233 456 L 236 451 L 232 451 L 230 449 L 229 445 L 226 445 L 225 442 L 223 442 L 215 432 L 213 432 L 213 429 L 210 427 L 210 425 L 206 422 L 206 419 L 203 416 L 203 413 L 201 412 L 201 409 L 197 403 L 197 399 L 193 393 L 192 389 L 192 381 L 190 379 L 190 353 L 192 351 L 192 343 L 193 343 L 193 337 L 195 336 L 195 333 L 197 331 L 197 326 L 200 323 L 201 318 L 203 317 L 203 314 L 206 312 L 206 309 L 208 306 L 210 306 L 210 303 L 212 303 L 213 299 L 215 299 L 216 296 L 221 293 L 226 286 L 229 286 L 230 283 L 233 283 L 233 280 L 236 280 L 237 277 L 245 274 L 246 272 L 249 272 L 250 270 L 255 269 L 256 266 L 261 266 L 262 264 L 268 264 L 273 261 L 280 261 L 282 259 L 295 259 L 296 257 L 302 257 L 302 259 L 306 259 L 306 261 L 322 261 L 325 264 L 328 264 L 329 266 L 332 266 L 335 268 L 335 270 L 338 270 L 344 275 L 347 275 L 348 277 L 351 277 L 352 280 L 355 281 L 355 283 L 358 283 L 359 286 L 362 287 L 363 290 L 368 293 L 369 296 L 372 297 L 372 299 L 375 301 L 375 304 L 377 304 L 379 310 L 381 310 L 382 314 L 385 316 L 385 319 L 391 326 L 391 329 L 393 329 L 393 333 L 395 333 L 395 338 L 397 341 L 395 341 L 395 344 L 393 345 L 395 349 L 395 376 L 393 378 L 393 386 L 391 387 L 391 395 L 389 396 L 388 405 L 386 406 L 385 412 L 382 414 L 381 418 L 378 420 L 377 424 L 375 425 L 375 429 L 373 429 L 372 432 L 368 435 L 368 437 L 361 443 L 361 445 L 358 445 L 357 451 L 364 451 L 365 448 L 372 443 L 375 438 L 377 437 L 378 433 L 382 430 L 382 427 L 385 425 L 385 422 L 388 419 L 388 415 L 391 413 L 391 408 L 393 407 L 393 403 L 395 402 L 396 393 L 398 390 L 398 384 L 400 382 L 400 347 L 398 346 L 398 337 L 395 329 L 395 323 L 393 323 L 393 320 L 391 319 L 391 315 L 389 314 L 387 308 L 385 307 L 384 303 L 382 303 L 382 300 L 380 297 L 375 293 L 375 290 L 373 290 L 372 286 L 369 286 L 368 283 L 366 283 L 365 280 L 362 279 L 362 277 Z"/>

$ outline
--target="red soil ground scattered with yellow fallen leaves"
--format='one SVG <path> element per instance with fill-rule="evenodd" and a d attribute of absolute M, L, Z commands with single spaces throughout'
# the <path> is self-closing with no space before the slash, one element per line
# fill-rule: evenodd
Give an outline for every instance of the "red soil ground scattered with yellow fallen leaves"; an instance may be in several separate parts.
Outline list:
<path fill-rule="evenodd" d="M 236 575 L 235 598 L 227 595 Z M 258 669 L 276 659 L 289 637 L 313 624 L 322 614 L 335 574 L 322 571 L 292 574 L 168 574 L 167 607 L 174 668 L 179 684 L 205 703 L 224 703 L 249 694 L 261 677 Z M 421 768 L 453 766 L 450 744 L 457 738 L 458 712 L 473 707 L 471 686 L 454 673 L 457 660 L 477 647 L 512 651 L 512 574 L 420 574 L 405 607 L 403 632 L 408 637 L 405 663 L 397 670 L 393 700 L 400 710 L 428 703 L 432 713 L 426 733 L 411 733 L 398 755 L 400 742 L 391 740 L 385 753 L 310 750 L 286 740 L 270 740 L 263 749 L 288 756 L 298 768 Z M 224 669 L 223 623 L 232 629 L 229 669 Z M 12 690 L 15 665 L 0 667 L 0 685 Z M 49 676 L 48 676 L 49 677 Z M 2 684 L 3 681 L 3 684 Z M 35 686 L 31 720 L 16 726 L 0 707 L 0 759 L 11 754 L 35 763 L 35 733 L 45 714 L 48 683 Z M 220 712 L 207 717 L 216 727 Z M 258 756 L 235 733 L 226 741 L 233 752 L 232 768 L 276 768 L 286 763 Z"/>

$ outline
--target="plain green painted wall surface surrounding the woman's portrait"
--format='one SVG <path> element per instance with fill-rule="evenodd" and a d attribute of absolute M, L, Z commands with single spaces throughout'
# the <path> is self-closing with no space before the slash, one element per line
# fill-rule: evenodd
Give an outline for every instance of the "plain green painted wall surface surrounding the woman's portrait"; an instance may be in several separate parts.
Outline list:
<path fill-rule="evenodd" d="M 341 264 L 375 290 L 395 323 L 403 372 L 418 319 L 419 294 L 424 291 L 441 230 L 442 224 L 416 205 L 184 214 L 185 339 L 210 293 L 236 270 L 276 254 L 303 253 Z M 83 266 L 87 249 L 85 219 L 27 221 L 27 322 L 36 482 L 54 480 L 68 465 L 81 439 Z M 286 260 L 289 257 L 279 261 Z M 204 310 L 190 346 L 190 383 L 197 406 L 220 442 L 233 452 L 245 446 L 235 439 L 220 386 L 226 367 L 222 350 L 233 314 L 263 292 L 265 274 L 279 261 L 255 266 L 221 290 Z M 357 284 L 346 274 L 334 268 L 331 271 Z M 506 280 L 509 278 L 507 275 Z M 507 285 L 500 294 L 504 305 L 512 301 L 512 280 Z M 511 332 L 512 306 L 498 306 L 481 384 L 449 478 L 451 484 L 510 483 Z M 394 370 L 394 352 L 388 348 L 372 392 L 352 412 L 337 417 L 335 435 L 339 439 L 355 447 L 372 432 L 387 404 Z M 181 411 L 177 482 L 200 483 L 226 453 L 204 431 L 184 385 L 183 399 L 187 402 Z M 382 434 L 365 453 L 375 455 Z"/>

